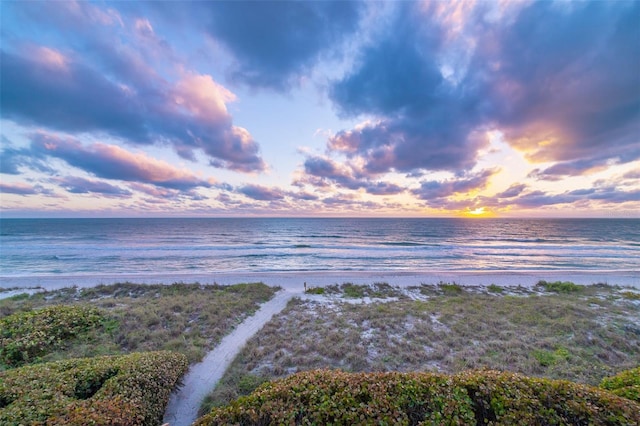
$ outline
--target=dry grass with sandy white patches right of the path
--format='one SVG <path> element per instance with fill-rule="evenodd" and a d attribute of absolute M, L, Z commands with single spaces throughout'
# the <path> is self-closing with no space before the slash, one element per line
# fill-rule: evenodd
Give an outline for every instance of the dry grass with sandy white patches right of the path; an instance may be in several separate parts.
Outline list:
<path fill-rule="evenodd" d="M 363 287 L 292 300 L 249 341 L 201 412 L 265 380 L 317 368 L 497 369 L 595 385 L 640 365 L 640 303 L 628 289 Z M 387 301 L 354 303 L 374 295 Z"/>

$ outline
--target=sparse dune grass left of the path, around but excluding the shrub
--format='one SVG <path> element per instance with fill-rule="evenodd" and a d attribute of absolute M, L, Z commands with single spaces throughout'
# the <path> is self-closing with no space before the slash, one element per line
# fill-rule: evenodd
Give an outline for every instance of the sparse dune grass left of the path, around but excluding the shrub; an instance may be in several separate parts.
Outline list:
<path fill-rule="evenodd" d="M 34 360 L 171 350 L 189 362 L 204 354 L 233 327 L 269 300 L 276 289 L 261 283 L 233 286 L 121 283 L 66 288 L 0 300 L 0 318 L 52 305 L 98 308 L 98 327 Z M 8 365 L 0 365 L 0 370 Z"/>

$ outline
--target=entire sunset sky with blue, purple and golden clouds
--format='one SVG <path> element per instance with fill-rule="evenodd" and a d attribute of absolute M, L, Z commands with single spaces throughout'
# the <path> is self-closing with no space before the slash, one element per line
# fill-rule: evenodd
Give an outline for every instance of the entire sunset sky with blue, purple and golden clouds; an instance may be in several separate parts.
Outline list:
<path fill-rule="evenodd" d="M 0 14 L 2 217 L 640 217 L 639 1 Z"/>

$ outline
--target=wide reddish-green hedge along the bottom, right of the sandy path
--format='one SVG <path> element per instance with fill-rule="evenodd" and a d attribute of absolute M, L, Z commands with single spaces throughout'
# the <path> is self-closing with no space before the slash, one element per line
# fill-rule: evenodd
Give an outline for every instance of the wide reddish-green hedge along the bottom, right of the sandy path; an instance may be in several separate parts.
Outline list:
<path fill-rule="evenodd" d="M 344 373 L 316 370 L 269 382 L 195 423 L 638 424 L 640 404 L 567 381 L 496 371 Z"/>

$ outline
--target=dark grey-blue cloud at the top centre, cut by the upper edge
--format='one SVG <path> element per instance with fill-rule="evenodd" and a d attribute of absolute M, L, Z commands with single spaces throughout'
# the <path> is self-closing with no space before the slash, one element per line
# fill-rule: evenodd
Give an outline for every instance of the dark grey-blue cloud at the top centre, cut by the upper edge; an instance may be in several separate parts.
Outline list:
<path fill-rule="evenodd" d="M 286 90 L 357 29 L 361 2 L 206 2 L 195 8 L 206 31 L 237 63 L 236 81 Z M 170 9 L 169 9 L 170 10 Z"/>

